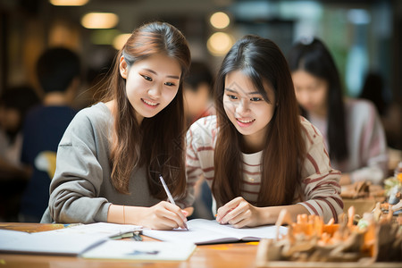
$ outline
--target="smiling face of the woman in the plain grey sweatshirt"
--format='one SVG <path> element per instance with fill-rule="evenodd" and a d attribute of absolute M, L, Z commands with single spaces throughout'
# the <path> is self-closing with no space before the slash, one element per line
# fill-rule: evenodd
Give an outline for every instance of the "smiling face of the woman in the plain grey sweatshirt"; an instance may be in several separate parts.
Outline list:
<path fill-rule="evenodd" d="M 126 79 L 126 94 L 138 124 L 161 112 L 179 90 L 180 63 L 165 54 L 155 54 L 132 65 L 121 57 L 120 72 Z"/>

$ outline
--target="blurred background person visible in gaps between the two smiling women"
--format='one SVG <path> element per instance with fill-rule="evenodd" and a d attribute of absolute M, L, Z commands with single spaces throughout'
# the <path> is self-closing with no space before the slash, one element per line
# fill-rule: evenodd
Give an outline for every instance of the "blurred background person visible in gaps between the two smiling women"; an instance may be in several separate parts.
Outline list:
<path fill-rule="evenodd" d="M 214 76 L 203 62 L 192 62 L 184 80 L 184 112 L 188 127 L 197 119 L 214 114 Z M 204 178 L 197 180 L 194 187 L 194 213 L 188 219 L 214 219 L 212 194 Z"/>

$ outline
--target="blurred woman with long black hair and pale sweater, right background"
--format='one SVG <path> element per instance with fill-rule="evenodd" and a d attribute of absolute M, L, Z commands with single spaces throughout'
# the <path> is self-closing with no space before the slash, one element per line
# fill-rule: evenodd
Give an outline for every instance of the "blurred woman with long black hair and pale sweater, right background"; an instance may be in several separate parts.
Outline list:
<path fill-rule="evenodd" d="M 339 72 L 321 40 L 302 40 L 289 51 L 289 68 L 302 115 L 320 130 L 341 185 L 381 184 L 387 174 L 387 141 L 373 103 L 343 96 Z"/>

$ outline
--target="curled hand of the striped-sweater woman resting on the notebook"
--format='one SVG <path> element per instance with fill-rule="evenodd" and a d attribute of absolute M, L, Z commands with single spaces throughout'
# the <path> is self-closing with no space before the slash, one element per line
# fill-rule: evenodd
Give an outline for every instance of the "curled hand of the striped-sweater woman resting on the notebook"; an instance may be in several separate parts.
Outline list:
<path fill-rule="evenodd" d="M 250 205 L 243 197 L 236 197 L 221 206 L 216 216 L 217 222 L 229 223 L 235 228 L 258 226 L 259 219 L 259 208 Z"/>

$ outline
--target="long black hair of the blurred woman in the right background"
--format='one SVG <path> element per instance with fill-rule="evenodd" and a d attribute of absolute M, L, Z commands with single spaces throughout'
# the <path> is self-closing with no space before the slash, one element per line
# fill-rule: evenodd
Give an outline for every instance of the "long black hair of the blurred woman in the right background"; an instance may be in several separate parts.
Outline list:
<path fill-rule="evenodd" d="M 327 121 L 330 158 L 338 162 L 348 158 L 345 105 L 339 72 L 330 51 L 318 38 L 312 42 L 297 42 L 289 50 L 290 71 L 303 70 L 328 83 Z M 301 113 L 308 119 L 306 111 Z"/>

